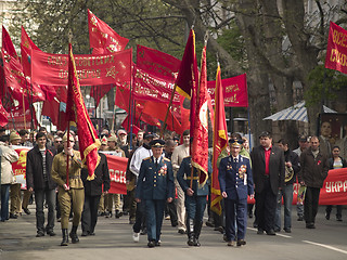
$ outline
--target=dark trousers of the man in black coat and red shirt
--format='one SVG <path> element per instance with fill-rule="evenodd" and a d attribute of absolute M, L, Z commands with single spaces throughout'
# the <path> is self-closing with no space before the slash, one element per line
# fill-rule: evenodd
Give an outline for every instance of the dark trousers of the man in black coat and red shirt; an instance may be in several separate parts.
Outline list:
<path fill-rule="evenodd" d="M 274 229 L 277 194 L 272 192 L 269 178 L 265 180 L 264 184 L 264 190 L 256 193 L 256 217 L 258 229 L 270 231 Z"/>

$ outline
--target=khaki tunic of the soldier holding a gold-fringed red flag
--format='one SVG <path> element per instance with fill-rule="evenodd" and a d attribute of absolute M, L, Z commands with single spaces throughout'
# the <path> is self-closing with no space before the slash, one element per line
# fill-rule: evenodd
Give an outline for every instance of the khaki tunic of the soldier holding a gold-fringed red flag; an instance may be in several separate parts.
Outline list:
<path fill-rule="evenodd" d="M 68 159 L 68 183 L 72 188 L 83 188 L 83 182 L 80 179 L 80 169 L 82 161 L 78 151 L 74 151 L 74 157 Z M 66 184 L 66 154 L 64 151 L 53 158 L 51 176 L 57 185 L 63 186 Z"/>

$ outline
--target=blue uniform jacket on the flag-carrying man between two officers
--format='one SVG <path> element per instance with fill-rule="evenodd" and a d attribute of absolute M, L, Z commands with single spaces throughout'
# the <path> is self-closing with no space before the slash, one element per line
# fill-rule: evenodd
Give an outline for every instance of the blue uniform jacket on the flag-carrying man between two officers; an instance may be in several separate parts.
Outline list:
<path fill-rule="evenodd" d="M 180 186 L 184 192 L 190 187 L 191 185 L 191 172 L 192 172 L 192 164 L 191 164 L 192 157 L 185 157 L 180 166 L 180 169 L 177 172 L 177 181 L 179 182 Z M 208 172 L 211 172 L 210 161 L 208 160 Z M 204 185 L 198 184 L 198 172 L 196 168 L 193 170 L 193 185 L 192 190 L 194 191 L 194 194 L 196 196 L 206 196 L 208 195 L 208 184 L 207 182 Z"/>

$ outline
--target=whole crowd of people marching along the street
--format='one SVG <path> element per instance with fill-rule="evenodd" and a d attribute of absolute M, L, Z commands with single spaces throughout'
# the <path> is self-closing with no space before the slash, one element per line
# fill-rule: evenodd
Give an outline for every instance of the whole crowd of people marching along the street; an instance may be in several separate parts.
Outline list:
<path fill-rule="evenodd" d="M 324 130 L 325 131 L 325 130 Z M 169 219 L 177 232 L 188 236 L 189 246 L 201 246 L 200 235 L 206 210 L 207 226 L 223 234 L 228 246 L 246 245 L 248 218 L 255 216 L 257 234 L 275 235 L 282 229 L 292 232 L 293 186 L 298 182 L 297 221 L 306 221 L 307 229 L 316 229 L 320 188 L 329 169 L 346 167 L 335 145 L 320 145 L 322 136 L 299 136 L 298 148 L 290 150 L 288 142 L 273 142 L 271 133 L 259 135 L 259 145 L 249 151 L 248 140 L 239 133 L 229 136 L 229 145 L 217 160 L 222 214 L 209 209 L 211 155 L 209 179 L 201 183 L 201 169 L 193 167 L 190 157 L 193 136 L 189 130 L 182 136 L 140 130 L 129 136 L 124 129 L 100 134 L 99 165 L 94 179 L 89 180 L 78 152 L 78 135 L 74 131 L 48 133 L 39 131 L 0 130 L 1 150 L 1 214 L 0 221 L 30 214 L 28 205 L 35 198 L 37 237 L 54 236 L 55 222 L 61 223 L 62 246 L 79 242 L 81 236 L 95 235 L 98 218 L 129 218 L 133 242 L 147 235 L 147 246 L 160 246 L 163 219 Z M 12 170 L 20 159 L 13 146 L 30 147 L 26 156 L 26 188 L 21 191 Z M 327 151 L 332 151 L 329 153 Z M 108 193 L 111 179 L 106 156 L 128 158 L 127 194 Z M 22 195 L 23 193 L 23 195 Z M 34 195 L 34 196 L 33 196 Z M 255 198 L 253 204 L 248 199 Z M 48 208 L 47 221 L 44 207 Z M 330 219 L 332 206 L 326 207 Z M 336 220 L 342 221 L 342 206 Z M 68 233 L 68 225 L 72 229 Z"/>

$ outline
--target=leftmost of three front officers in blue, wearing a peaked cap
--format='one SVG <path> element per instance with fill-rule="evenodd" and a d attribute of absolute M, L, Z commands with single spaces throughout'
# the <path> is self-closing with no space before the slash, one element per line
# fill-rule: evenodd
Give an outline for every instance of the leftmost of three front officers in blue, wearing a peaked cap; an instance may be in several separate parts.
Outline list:
<path fill-rule="evenodd" d="M 143 159 L 138 178 L 136 200 L 143 200 L 147 221 L 149 247 L 160 246 L 160 231 L 165 200 L 175 196 L 174 171 L 169 159 L 163 156 L 163 140 L 153 140 L 150 145 L 153 156 Z"/>

